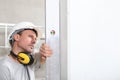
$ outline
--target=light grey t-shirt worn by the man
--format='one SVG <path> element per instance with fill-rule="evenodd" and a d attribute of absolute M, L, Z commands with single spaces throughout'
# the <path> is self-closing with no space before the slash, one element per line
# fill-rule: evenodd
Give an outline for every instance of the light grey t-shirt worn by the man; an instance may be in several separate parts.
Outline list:
<path fill-rule="evenodd" d="M 6 56 L 0 60 L 0 80 L 35 80 L 34 66 L 27 68 Z"/>

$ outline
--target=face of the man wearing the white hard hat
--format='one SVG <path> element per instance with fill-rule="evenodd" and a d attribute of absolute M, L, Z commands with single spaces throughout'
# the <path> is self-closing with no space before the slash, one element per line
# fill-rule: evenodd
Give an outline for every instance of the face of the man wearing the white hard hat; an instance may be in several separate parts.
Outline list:
<path fill-rule="evenodd" d="M 25 30 L 19 35 L 17 46 L 21 51 L 32 52 L 36 43 L 36 34 L 32 30 Z"/>

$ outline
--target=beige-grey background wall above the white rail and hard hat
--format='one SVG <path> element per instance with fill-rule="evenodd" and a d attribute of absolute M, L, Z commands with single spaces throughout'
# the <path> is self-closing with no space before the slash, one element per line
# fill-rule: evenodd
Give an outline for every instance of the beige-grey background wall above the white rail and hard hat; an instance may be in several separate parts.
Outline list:
<path fill-rule="evenodd" d="M 45 26 L 45 0 L 0 0 L 0 23 L 21 21 Z"/>

